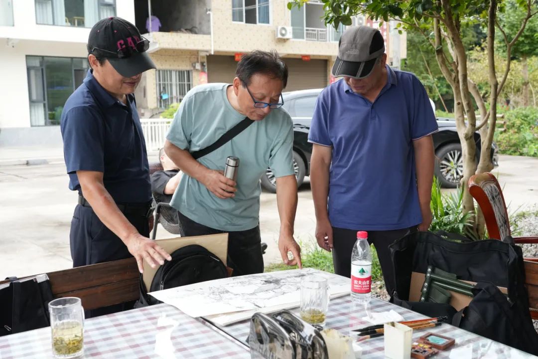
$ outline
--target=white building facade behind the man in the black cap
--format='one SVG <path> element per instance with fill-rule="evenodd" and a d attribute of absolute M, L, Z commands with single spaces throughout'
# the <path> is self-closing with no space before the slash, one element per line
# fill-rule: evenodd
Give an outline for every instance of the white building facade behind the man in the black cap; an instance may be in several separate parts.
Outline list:
<path fill-rule="evenodd" d="M 0 146 L 56 145 L 63 104 L 88 71 L 98 20 L 134 22 L 132 0 L 0 0 Z"/>

